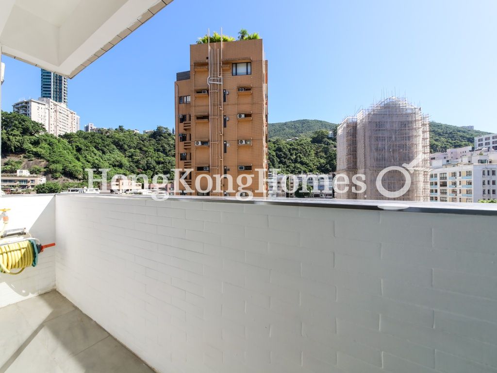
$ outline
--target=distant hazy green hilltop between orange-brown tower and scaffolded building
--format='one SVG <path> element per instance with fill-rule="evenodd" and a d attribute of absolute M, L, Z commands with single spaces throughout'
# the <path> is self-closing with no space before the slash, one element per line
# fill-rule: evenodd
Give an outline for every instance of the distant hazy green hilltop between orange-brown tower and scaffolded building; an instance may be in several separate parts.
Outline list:
<path fill-rule="evenodd" d="M 314 131 L 326 129 L 333 131 L 337 124 L 317 119 L 300 119 L 289 122 L 269 123 L 269 137 L 283 140 L 292 137 L 311 137 Z"/>

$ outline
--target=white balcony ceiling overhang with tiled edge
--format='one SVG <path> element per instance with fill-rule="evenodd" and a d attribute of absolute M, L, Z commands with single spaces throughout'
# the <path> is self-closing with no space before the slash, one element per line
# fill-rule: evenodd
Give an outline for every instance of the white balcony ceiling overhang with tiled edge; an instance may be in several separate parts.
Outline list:
<path fill-rule="evenodd" d="M 1 0 L 1 51 L 73 78 L 171 1 Z"/>

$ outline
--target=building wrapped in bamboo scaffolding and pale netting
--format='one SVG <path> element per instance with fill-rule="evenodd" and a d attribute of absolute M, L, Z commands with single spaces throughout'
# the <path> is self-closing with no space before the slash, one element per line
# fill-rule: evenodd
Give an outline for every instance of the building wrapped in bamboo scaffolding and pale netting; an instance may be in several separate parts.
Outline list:
<path fill-rule="evenodd" d="M 385 172 L 389 167 L 394 169 Z M 428 170 L 428 116 L 405 98 L 384 99 L 338 126 L 337 175 L 346 176 L 350 184 L 348 190 L 335 188 L 336 198 L 427 201 Z M 363 192 L 352 190 L 354 175 L 363 175 Z M 379 186 L 391 192 L 406 190 L 392 197 Z"/>

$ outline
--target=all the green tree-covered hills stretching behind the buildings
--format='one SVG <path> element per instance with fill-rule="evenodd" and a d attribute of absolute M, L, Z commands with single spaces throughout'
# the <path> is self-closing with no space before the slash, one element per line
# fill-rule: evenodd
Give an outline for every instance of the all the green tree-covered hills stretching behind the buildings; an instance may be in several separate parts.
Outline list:
<path fill-rule="evenodd" d="M 335 171 L 336 142 L 328 137 L 335 128 L 336 124 L 309 119 L 269 124 L 269 167 L 292 174 Z M 431 122 L 431 152 L 473 145 L 474 137 L 485 133 Z M 109 178 L 115 174 L 152 178 L 174 168 L 174 135 L 161 126 L 147 135 L 119 126 L 55 137 L 24 115 L 2 112 L 1 136 L 3 172 L 27 167 L 64 182 L 85 180 L 85 168 L 111 169 Z M 292 137 L 299 139 L 286 141 Z"/>

